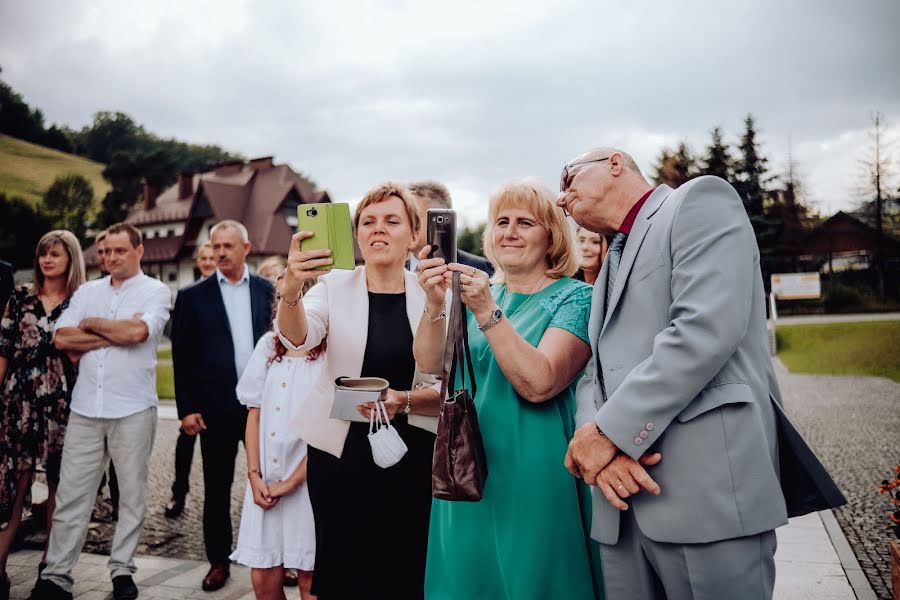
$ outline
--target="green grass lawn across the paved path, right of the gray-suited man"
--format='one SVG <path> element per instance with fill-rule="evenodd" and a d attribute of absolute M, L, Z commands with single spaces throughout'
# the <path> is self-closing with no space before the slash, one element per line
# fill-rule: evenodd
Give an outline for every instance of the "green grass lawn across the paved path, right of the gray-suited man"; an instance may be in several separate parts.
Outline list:
<path fill-rule="evenodd" d="M 793 373 L 900 382 L 900 321 L 779 325 L 776 333 L 778 356 Z"/>

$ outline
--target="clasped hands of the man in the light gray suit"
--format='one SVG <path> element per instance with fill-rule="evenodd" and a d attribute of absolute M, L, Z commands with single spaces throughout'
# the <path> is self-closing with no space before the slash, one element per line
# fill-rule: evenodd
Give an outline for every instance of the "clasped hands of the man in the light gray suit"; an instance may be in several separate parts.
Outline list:
<path fill-rule="evenodd" d="M 658 496 L 659 485 L 644 467 L 651 467 L 662 460 L 657 453 L 647 454 L 634 460 L 622 454 L 608 437 L 597 430 L 591 422 L 575 430 L 565 465 L 569 472 L 584 479 L 588 485 L 596 485 L 606 501 L 619 510 L 628 510 L 623 501 L 641 490 Z"/>

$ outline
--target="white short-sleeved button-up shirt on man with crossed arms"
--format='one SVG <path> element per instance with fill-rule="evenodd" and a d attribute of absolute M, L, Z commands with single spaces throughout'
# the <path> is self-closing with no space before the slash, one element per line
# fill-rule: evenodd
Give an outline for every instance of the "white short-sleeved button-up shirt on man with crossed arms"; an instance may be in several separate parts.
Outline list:
<path fill-rule="evenodd" d="M 156 347 L 171 301 L 166 284 L 143 273 L 117 288 L 109 276 L 78 288 L 54 330 L 78 327 L 89 318 L 118 321 L 141 313 L 150 335 L 140 344 L 86 352 L 72 390 L 73 411 L 94 419 L 120 419 L 156 406 Z"/>

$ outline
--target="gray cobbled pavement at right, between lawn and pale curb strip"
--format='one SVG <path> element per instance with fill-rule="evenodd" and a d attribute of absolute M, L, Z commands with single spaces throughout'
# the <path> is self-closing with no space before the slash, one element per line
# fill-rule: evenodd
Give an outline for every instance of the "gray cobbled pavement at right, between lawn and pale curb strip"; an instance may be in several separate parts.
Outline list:
<path fill-rule="evenodd" d="M 834 511 L 878 598 L 891 598 L 889 499 L 900 460 L 900 384 L 883 377 L 799 375 L 776 361 L 785 409 L 847 497 Z"/>

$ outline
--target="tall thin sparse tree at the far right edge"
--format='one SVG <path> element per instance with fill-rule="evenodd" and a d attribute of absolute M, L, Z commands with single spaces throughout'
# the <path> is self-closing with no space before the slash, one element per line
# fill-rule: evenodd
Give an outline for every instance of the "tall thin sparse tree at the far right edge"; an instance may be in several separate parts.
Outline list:
<path fill-rule="evenodd" d="M 890 197 L 885 192 L 892 187 L 893 173 L 891 172 L 891 159 L 888 153 L 890 144 L 885 138 L 887 124 L 884 121 L 884 115 L 876 111 L 872 113 L 871 119 L 870 145 L 862 160 L 863 185 L 860 190 L 862 202 L 859 212 L 878 232 L 873 266 L 875 267 L 875 276 L 877 278 L 878 295 L 884 301 L 886 295 L 884 282 L 884 235 L 885 225 L 888 221 L 885 217 L 885 208 L 890 200 Z"/>

